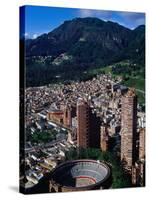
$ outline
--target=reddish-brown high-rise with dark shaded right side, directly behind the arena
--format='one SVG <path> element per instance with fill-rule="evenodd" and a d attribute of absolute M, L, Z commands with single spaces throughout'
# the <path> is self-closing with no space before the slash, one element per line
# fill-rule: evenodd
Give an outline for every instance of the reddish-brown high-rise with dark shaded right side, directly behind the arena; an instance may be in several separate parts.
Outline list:
<path fill-rule="evenodd" d="M 77 144 L 79 147 L 99 148 L 99 119 L 84 100 L 77 102 Z"/>

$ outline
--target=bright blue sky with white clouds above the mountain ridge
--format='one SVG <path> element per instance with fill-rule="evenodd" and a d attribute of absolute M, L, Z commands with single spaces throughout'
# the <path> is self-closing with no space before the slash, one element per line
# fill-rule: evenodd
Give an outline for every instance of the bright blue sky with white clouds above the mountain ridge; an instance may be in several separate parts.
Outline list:
<path fill-rule="evenodd" d="M 97 17 L 104 21 L 117 22 L 130 29 L 145 24 L 144 13 L 26 6 L 24 35 L 26 38 L 34 39 L 43 33 L 52 31 L 64 21 L 76 17 Z"/>

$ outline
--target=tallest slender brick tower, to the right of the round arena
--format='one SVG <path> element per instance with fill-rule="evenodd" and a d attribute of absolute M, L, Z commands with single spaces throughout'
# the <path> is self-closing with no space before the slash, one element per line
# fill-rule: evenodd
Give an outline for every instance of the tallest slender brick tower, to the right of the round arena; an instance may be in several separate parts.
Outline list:
<path fill-rule="evenodd" d="M 137 96 L 133 89 L 122 97 L 121 161 L 131 169 L 136 159 Z"/>

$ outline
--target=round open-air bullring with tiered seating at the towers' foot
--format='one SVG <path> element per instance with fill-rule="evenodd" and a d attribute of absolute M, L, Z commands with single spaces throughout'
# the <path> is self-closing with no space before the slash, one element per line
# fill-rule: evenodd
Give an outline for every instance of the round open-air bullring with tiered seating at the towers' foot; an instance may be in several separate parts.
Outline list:
<path fill-rule="evenodd" d="M 111 186 L 111 169 L 102 161 L 73 160 L 51 173 L 50 192 L 104 189 Z"/>

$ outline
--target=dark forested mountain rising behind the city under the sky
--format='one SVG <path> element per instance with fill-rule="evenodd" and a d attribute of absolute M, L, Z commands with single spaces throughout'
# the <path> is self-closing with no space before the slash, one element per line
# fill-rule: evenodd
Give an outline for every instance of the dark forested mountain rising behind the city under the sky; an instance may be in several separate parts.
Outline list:
<path fill-rule="evenodd" d="M 135 30 L 98 18 L 65 21 L 25 40 L 27 86 L 79 79 L 88 69 L 129 59 L 144 64 L 145 26 Z"/>

